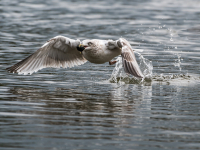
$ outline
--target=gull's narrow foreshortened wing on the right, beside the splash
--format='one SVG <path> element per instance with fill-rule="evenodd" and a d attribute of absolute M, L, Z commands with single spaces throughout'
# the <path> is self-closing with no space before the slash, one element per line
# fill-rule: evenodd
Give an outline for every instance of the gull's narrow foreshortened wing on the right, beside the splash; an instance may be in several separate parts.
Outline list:
<path fill-rule="evenodd" d="M 135 54 L 131 48 L 131 45 L 129 44 L 127 40 L 123 38 L 120 38 L 119 40 L 122 44 L 121 56 L 122 56 L 124 71 L 137 78 L 143 78 L 144 75 L 142 74 L 138 66 L 138 63 L 135 59 Z"/>

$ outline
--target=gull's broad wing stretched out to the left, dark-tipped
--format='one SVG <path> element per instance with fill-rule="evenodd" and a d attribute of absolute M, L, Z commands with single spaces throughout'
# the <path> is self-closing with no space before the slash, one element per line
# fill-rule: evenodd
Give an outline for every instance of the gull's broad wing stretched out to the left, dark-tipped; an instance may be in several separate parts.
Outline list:
<path fill-rule="evenodd" d="M 67 68 L 82 65 L 87 60 L 76 49 L 79 44 L 79 40 L 56 36 L 29 57 L 6 69 L 12 73 L 32 74 L 47 67 Z"/>

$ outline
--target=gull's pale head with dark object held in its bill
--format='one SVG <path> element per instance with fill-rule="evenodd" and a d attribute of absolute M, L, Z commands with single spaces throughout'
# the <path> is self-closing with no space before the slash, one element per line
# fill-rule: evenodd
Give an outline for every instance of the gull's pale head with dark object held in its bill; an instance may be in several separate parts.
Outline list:
<path fill-rule="evenodd" d="M 95 41 L 94 40 L 84 40 L 79 44 L 77 47 L 77 50 L 82 52 L 83 50 L 90 50 L 94 49 L 96 47 Z"/>

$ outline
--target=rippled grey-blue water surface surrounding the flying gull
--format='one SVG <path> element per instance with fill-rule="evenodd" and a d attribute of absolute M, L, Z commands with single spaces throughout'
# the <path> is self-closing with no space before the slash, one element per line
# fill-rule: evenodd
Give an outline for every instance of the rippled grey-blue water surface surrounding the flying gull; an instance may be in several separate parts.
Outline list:
<path fill-rule="evenodd" d="M 199 17 L 199 0 L 1 0 L 0 149 L 199 149 Z M 111 81 L 115 66 L 89 62 L 6 72 L 57 35 L 126 38 L 152 77 Z"/>

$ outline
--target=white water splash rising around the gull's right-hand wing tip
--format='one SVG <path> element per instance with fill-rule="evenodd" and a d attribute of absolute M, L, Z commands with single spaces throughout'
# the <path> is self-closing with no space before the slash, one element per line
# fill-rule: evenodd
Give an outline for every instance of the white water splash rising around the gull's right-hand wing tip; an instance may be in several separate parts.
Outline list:
<path fill-rule="evenodd" d="M 151 82 L 153 65 L 152 62 L 144 58 L 140 53 L 136 52 L 139 55 L 139 67 L 141 72 L 144 75 L 143 79 L 138 79 L 132 75 L 129 75 L 124 72 L 122 57 L 119 56 L 116 60 L 117 63 L 113 69 L 111 78 L 109 79 L 111 83 L 119 84 L 140 84 L 143 82 Z"/>

